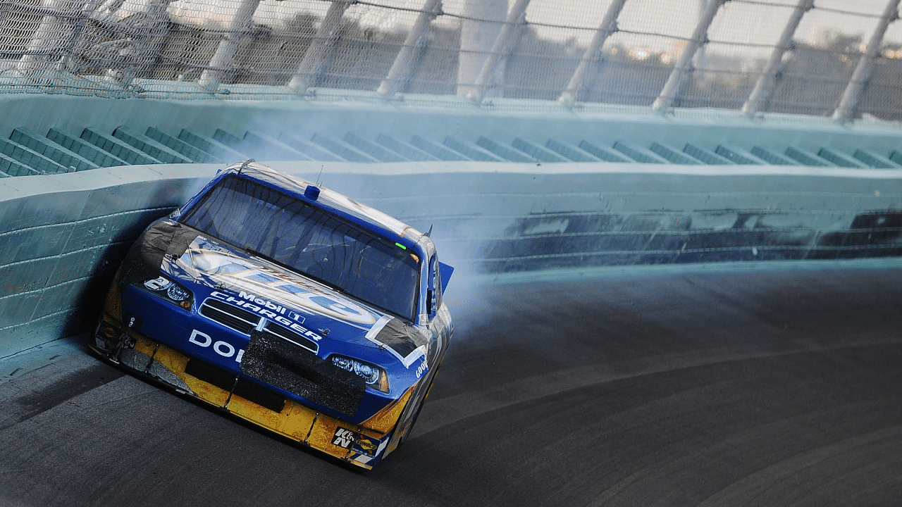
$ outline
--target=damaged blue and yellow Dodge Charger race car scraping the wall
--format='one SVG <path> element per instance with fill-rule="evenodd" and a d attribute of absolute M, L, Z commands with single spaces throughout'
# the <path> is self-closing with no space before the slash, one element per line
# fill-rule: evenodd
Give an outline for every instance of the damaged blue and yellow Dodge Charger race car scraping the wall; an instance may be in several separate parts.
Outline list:
<path fill-rule="evenodd" d="M 246 161 L 143 232 L 90 346 L 372 468 L 410 435 L 435 379 L 452 271 L 428 234 Z"/>

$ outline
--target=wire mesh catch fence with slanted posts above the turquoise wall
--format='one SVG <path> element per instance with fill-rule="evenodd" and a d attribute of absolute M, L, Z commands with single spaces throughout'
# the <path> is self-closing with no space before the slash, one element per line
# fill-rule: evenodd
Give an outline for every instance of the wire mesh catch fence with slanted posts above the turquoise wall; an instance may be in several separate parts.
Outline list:
<path fill-rule="evenodd" d="M 801 115 L 839 115 L 845 106 L 849 118 L 902 120 L 897 6 L 898 0 L 5 0 L 0 93 L 248 98 L 341 88 L 378 90 L 390 99 L 471 93 L 477 103 L 491 97 L 567 103 L 569 92 L 569 106 Z M 710 23 L 701 23 L 711 9 Z M 606 16 L 615 23 L 604 25 Z M 599 46 L 587 51 L 594 40 Z M 497 58 L 492 51 L 500 51 Z M 769 67 L 772 58 L 776 65 Z"/>

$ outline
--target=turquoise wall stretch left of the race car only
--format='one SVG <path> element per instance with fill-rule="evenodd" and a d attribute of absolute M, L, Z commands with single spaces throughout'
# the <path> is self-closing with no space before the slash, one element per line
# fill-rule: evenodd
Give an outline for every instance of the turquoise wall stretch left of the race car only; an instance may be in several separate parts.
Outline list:
<path fill-rule="evenodd" d="M 0 356 L 89 327 L 128 245 L 215 170 L 166 172 L 132 166 L 0 180 Z"/>

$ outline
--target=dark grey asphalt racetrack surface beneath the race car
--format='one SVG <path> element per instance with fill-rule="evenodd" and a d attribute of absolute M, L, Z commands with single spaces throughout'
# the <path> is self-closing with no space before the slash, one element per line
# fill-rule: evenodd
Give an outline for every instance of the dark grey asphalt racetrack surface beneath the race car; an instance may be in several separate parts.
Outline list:
<path fill-rule="evenodd" d="M 0 362 L 0 504 L 898 505 L 902 268 L 468 287 L 358 471 L 60 341 Z"/>

